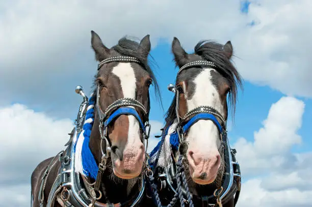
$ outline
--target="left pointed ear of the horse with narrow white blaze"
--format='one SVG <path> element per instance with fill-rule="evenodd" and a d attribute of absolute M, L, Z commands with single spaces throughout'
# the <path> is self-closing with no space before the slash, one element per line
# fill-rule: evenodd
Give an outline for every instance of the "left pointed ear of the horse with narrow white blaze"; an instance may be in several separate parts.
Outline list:
<path fill-rule="evenodd" d="M 103 45 L 100 37 L 94 31 L 91 31 L 91 45 L 97 61 L 105 60 L 110 56 L 110 49 Z"/>

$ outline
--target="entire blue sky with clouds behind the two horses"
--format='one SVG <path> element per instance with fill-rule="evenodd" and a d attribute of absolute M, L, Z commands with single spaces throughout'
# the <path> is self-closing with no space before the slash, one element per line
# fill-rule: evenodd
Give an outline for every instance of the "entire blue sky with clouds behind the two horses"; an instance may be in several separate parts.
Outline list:
<path fill-rule="evenodd" d="M 150 35 L 162 90 L 177 69 L 170 45 L 230 40 L 245 83 L 229 139 L 243 186 L 237 206 L 311 206 L 312 1 L 42 1 L 0 2 L 0 206 L 29 206 L 30 176 L 61 151 L 97 63 L 94 30 L 111 47 Z M 153 134 L 164 110 L 151 97 Z M 158 142 L 152 138 L 150 145 Z"/>

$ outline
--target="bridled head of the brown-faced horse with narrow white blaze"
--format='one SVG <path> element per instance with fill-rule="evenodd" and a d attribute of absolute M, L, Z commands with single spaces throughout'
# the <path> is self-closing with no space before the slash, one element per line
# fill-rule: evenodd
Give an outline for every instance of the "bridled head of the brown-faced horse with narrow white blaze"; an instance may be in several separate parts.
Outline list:
<path fill-rule="evenodd" d="M 148 66 L 149 35 L 140 43 L 126 38 L 112 48 L 91 31 L 91 45 L 99 61 L 95 75 L 95 121 L 90 135 L 90 149 L 101 160 L 101 150 L 111 155 L 114 174 L 132 179 L 141 173 L 145 160 L 144 138 L 150 109 L 149 87 L 157 88 Z M 100 140 L 105 140 L 100 146 Z M 100 146 L 100 147 L 99 147 Z"/>

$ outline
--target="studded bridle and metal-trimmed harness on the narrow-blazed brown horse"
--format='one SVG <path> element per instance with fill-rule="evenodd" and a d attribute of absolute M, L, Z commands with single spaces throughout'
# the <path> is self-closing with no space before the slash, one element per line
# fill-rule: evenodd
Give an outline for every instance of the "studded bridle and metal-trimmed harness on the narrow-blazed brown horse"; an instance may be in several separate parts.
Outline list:
<path fill-rule="evenodd" d="M 111 63 L 111 62 L 133 62 L 133 63 L 139 63 L 142 64 L 138 58 L 135 57 L 129 57 L 129 56 L 117 56 L 117 57 L 110 57 L 106 60 L 103 60 L 98 64 L 98 70 L 103 66 L 104 64 Z M 142 64 L 144 65 L 144 64 Z M 118 116 L 121 114 L 127 114 L 127 115 L 133 115 L 136 117 L 136 119 L 139 121 L 140 129 L 143 132 L 143 136 L 141 137 L 141 141 L 144 144 L 144 139 L 146 139 L 146 145 L 148 143 L 148 137 L 150 132 L 150 125 L 148 123 L 148 112 L 142 103 L 135 99 L 131 98 L 122 98 L 118 99 L 115 102 L 113 102 L 111 105 L 108 106 L 108 108 L 105 111 L 102 111 L 100 107 L 100 87 L 97 85 L 96 88 L 96 104 L 95 104 L 95 110 L 97 110 L 98 118 L 99 118 L 99 130 L 100 130 L 100 147 L 101 147 L 101 161 L 98 165 L 98 172 L 96 175 L 96 181 L 91 184 L 87 181 L 87 179 L 84 177 L 83 174 L 80 172 L 77 172 L 75 170 L 75 144 L 77 143 L 77 139 L 79 137 L 80 133 L 83 133 L 84 126 L 86 124 L 86 121 L 89 119 L 94 118 L 94 114 L 92 114 L 93 117 L 89 116 L 87 111 L 91 111 L 92 107 L 94 106 L 93 103 L 89 105 L 90 100 L 88 101 L 87 96 L 83 93 L 82 87 L 77 86 L 76 87 L 76 93 L 83 96 L 83 102 L 80 105 L 79 112 L 77 114 L 77 119 L 75 121 L 75 128 L 73 130 L 74 134 L 72 136 L 71 141 L 68 143 L 67 149 L 63 152 L 63 155 L 60 153 L 56 156 L 60 156 L 59 160 L 61 162 L 61 167 L 58 169 L 58 175 L 51 186 L 51 190 L 49 192 L 48 200 L 47 200 L 47 206 L 54 206 L 54 202 L 59 196 L 61 201 L 66 206 L 84 206 L 84 207 L 107 207 L 107 206 L 115 206 L 115 207 L 123 207 L 123 206 L 136 206 L 144 196 L 145 192 L 145 173 L 143 173 L 142 179 L 140 180 L 140 190 L 136 196 L 132 196 L 131 198 L 127 199 L 127 201 L 123 203 L 110 203 L 107 200 L 107 203 L 101 203 L 98 202 L 102 196 L 102 193 L 100 191 L 100 184 L 101 184 L 101 177 L 103 172 L 106 169 L 107 159 L 110 157 L 110 141 L 107 137 L 107 128 L 110 124 L 112 124 Z M 92 102 L 94 97 L 92 97 Z M 89 108 L 91 107 L 91 108 Z M 148 106 L 149 108 L 149 106 Z M 142 119 L 138 113 L 138 110 L 142 112 L 142 119 L 145 123 L 142 122 Z M 92 109 L 93 110 L 93 109 Z M 94 113 L 93 111 L 91 113 Z M 90 121 L 90 120 L 89 120 Z M 92 120 L 94 123 L 94 120 Z M 90 123 L 90 122 L 89 122 Z M 147 127 L 149 128 L 147 131 Z M 106 150 L 103 152 L 102 142 L 103 140 L 106 142 Z M 146 146 L 147 148 L 147 146 Z M 55 158 L 56 158 L 55 157 Z M 146 156 L 148 157 L 148 156 Z M 145 161 L 147 163 L 147 160 Z M 49 166 L 47 167 L 46 171 L 44 172 L 42 176 L 41 186 L 40 186 L 40 192 L 38 195 L 38 200 L 40 201 L 40 206 L 43 207 L 44 205 L 44 197 L 43 193 L 45 188 L 45 182 L 48 177 L 48 174 L 51 170 L 51 168 L 55 165 L 55 159 L 53 159 Z M 148 165 L 148 163 L 147 163 Z M 81 181 L 81 177 L 83 178 L 83 183 Z M 93 187 L 94 186 L 94 187 Z M 103 189 L 104 190 L 104 189 Z M 99 193 L 98 197 L 96 197 L 96 192 Z"/>

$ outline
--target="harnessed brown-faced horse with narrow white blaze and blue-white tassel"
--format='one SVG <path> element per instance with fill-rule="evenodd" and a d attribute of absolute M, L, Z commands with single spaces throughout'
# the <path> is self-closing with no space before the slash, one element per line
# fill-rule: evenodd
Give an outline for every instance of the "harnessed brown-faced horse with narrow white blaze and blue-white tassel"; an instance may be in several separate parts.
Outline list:
<path fill-rule="evenodd" d="M 122 38 L 111 49 L 91 36 L 99 61 L 95 90 L 88 99 L 76 88 L 84 97 L 76 126 L 67 148 L 34 170 L 32 206 L 137 206 L 144 200 L 149 86 L 160 95 L 148 61 L 149 35 L 140 43 Z"/>

